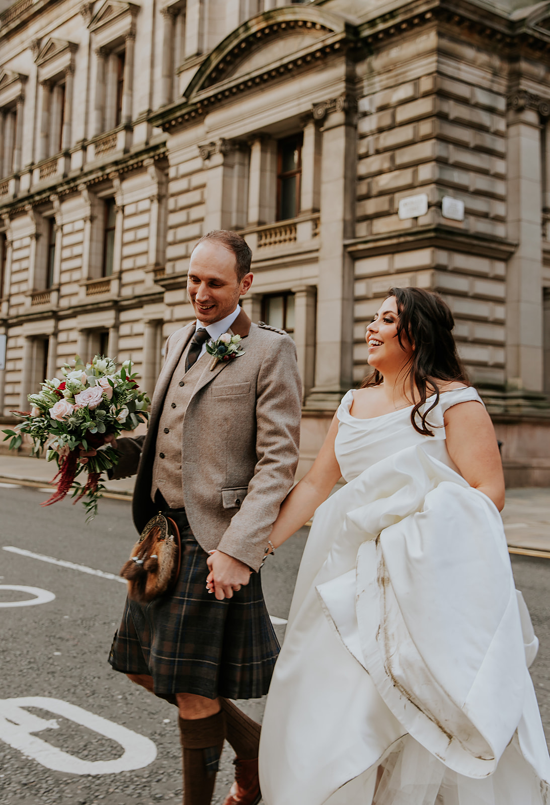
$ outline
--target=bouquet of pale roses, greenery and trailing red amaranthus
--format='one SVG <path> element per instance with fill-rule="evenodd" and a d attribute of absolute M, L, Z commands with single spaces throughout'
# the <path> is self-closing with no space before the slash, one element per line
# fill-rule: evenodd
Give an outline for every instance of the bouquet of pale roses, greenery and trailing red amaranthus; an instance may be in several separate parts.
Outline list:
<path fill-rule="evenodd" d="M 118 462 L 117 451 L 106 443 L 121 431 L 133 431 L 148 416 L 149 398 L 139 390 L 131 369 L 131 361 L 117 370 L 110 357 L 96 355 L 85 364 L 77 356 L 74 369 L 68 364 L 61 369 L 63 380 L 45 380 L 38 394 L 28 395 L 31 411 L 11 412 L 23 421 L 14 430 L 3 431 L 10 449 L 19 448 L 27 434 L 34 454 L 46 447 L 46 459 L 57 462 L 52 481 L 57 489 L 42 506 L 63 500 L 72 489 L 75 503 L 85 498 L 87 520 L 97 514 L 97 502 L 105 491 L 101 475 Z M 82 464 L 81 449 L 97 449 L 97 455 Z M 81 473 L 87 474 L 82 484 L 76 480 Z"/>

